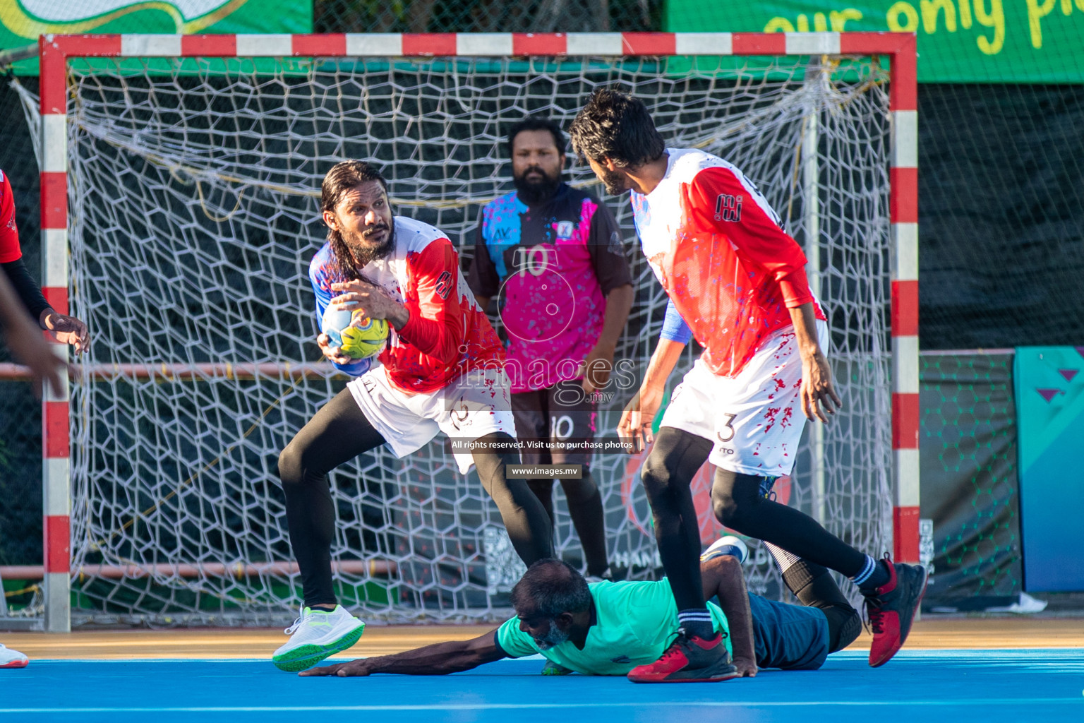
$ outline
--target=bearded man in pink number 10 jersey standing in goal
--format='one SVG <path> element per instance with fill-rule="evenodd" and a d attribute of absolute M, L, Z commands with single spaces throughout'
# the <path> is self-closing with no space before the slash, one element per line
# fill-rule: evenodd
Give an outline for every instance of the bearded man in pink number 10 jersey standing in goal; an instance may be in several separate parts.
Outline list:
<path fill-rule="evenodd" d="M 580 479 L 560 480 L 568 512 L 589 579 L 612 577 L 591 454 L 567 446 L 594 439 L 598 398 L 612 393 L 603 389 L 632 306 L 629 262 L 609 209 L 562 180 L 560 126 L 527 116 L 507 150 L 516 190 L 482 208 L 467 284 L 482 308 L 499 300 L 524 464 L 580 465 Z M 528 483 L 552 518 L 553 480 Z"/>

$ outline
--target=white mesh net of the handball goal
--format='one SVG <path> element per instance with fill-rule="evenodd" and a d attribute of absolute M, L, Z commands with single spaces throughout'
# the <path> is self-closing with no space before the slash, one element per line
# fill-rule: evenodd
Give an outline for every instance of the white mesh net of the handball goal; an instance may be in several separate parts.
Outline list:
<path fill-rule="evenodd" d="M 73 556 L 83 569 L 75 620 L 287 620 L 300 581 L 280 564 L 292 555 L 276 455 L 344 384 L 330 365 L 307 377 L 286 367 L 320 358 L 306 270 L 324 233 L 323 173 L 346 158 L 378 163 L 398 211 L 444 230 L 467 257 L 480 206 L 511 188 L 507 124 L 544 111 L 567 126 L 592 88 L 614 81 L 649 104 L 671 145 L 743 168 L 800 243 L 801 143 L 816 114 L 822 296 L 846 402 L 824 441 L 826 524 L 862 550 L 888 548 L 887 77 L 848 61 L 846 70 L 831 66 L 829 82 L 804 82 L 805 62 L 701 59 L 691 72 L 612 59 L 94 61 L 69 70 L 72 305 L 94 336 L 82 363 L 154 371 L 73 388 Z M 594 180 L 580 164 L 568 179 Z M 637 279 L 618 357 L 642 373 L 664 296 L 634 242 L 628 202 L 607 203 Z M 279 366 L 254 378 L 233 367 L 163 373 L 225 362 Z M 608 404 L 606 435 L 628 397 Z M 644 577 L 657 558 L 636 466 L 618 455 L 594 463 L 611 559 Z M 780 489 L 806 511 L 809 467 L 803 451 Z M 706 479 L 696 487 L 708 540 Z M 387 620 L 502 612 L 500 517 L 439 443 L 403 461 L 362 455 L 332 482 L 344 604 Z M 556 508 L 558 550 L 578 560 L 563 499 Z M 780 594 L 766 554 L 753 553 L 751 588 Z"/>

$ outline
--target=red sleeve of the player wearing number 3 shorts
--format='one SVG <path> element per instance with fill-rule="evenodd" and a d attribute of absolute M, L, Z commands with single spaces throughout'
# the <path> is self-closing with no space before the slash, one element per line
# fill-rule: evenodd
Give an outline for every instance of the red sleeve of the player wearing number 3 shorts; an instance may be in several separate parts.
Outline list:
<path fill-rule="evenodd" d="M 775 212 L 754 189 L 728 168 L 705 168 L 688 189 L 688 212 L 697 224 L 725 234 L 737 256 L 763 269 L 779 285 L 787 308 L 813 301 L 805 277 L 805 255 L 779 228 Z"/>

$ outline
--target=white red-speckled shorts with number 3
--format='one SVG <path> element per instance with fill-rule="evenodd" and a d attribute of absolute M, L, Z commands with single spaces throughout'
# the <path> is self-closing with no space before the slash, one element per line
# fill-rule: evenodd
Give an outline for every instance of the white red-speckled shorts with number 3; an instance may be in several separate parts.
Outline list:
<path fill-rule="evenodd" d="M 821 348 L 828 324 L 816 322 Z M 792 327 L 765 339 L 735 377 L 713 374 L 697 359 L 670 397 L 660 426 L 712 441 L 708 462 L 743 475 L 782 477 L 795 466 L 805 425 L 799 396 L 802 360 Z"/>

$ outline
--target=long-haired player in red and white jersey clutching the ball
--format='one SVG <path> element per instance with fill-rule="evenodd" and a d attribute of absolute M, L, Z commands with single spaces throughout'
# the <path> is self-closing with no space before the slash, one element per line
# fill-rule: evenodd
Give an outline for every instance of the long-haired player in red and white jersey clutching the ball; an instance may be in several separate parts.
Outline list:
<path fill-rule="evenodd" d="M 273 657 L 301 670 L 353 645 L 364 627 L 337 603 L 331 544 L 335 506 L 327 473 L 380 444 L 399 457 L 443 431 L 464 474 L 474 464 L 527 565 L 553 555 L 550 518 L 519 462 L 504 350 L 460 272 L 459 255 L 438 229 L 392 216 L 387 183 L 372 166 L 349 160 L 324 177 L 321 206 L 327 244 L 309 276 L 317 318 L 327 305 L 361 310 L 393 330 L 378 364 L 317 343 L 354 378 L 320 409 L 279 456 L 289 541 L 305 606 L 291 640 Z M 456 451 L 455 443 L 461 446 Z"/>

